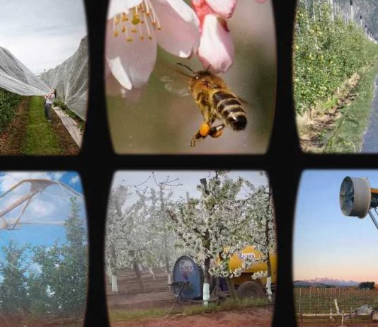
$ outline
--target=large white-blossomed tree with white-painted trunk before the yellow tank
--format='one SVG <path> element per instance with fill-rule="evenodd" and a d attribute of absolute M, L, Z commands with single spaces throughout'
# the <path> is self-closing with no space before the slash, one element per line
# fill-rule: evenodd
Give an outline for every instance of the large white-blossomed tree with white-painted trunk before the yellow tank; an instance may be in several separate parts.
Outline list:
<path fill-rule="evenodd" d="M 244 186 L 251 193 L 243 195 Z M 265 253 L 275 241 L 274 232 L 270 232 L 274 230 L 274 221 L 268 217 L 269 198 L 263 196 L 263 188 L 255 190 L 243 178 L 232 180 L 227 175 L 219 176 L 218 172 L 209 180 L 201 179 L 197 190 L 199 198 L 187 197 L 168 208 L 173 230 L 179 245 L 190 249 L 195 261 L 203 267 L 204 303 L 210 299 L 211 275 L 225 277 L 231 297 L 236 299 L 232 278 L 241 275 L 254 261 L 247 256 L 240 268 L 231 270 L 231 257 L 252 244 L 266 260 Z M 256 273 L 256 277 L 263 275 Z"/>

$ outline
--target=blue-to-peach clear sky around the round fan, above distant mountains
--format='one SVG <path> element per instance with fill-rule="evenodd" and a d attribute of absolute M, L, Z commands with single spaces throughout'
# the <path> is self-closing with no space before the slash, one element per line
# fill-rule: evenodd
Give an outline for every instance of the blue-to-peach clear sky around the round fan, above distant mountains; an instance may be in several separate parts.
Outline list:
<path fill-rule="evenodd" d="M 331 277 L 378 283 L 378 230 L 370 217 L 341 213 L 338 195 L 345 176 L 367 177 L 378 188 L 377 170 L 302 174 L 294 221 L 294 280 Z"/>

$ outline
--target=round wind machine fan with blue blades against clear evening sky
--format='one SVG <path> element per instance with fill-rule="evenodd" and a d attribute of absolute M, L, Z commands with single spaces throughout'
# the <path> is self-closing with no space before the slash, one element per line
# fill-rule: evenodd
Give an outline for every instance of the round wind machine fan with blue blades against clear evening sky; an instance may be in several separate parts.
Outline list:
<path fill-rule="evenodd" d="M 340 187 L 340 209 L 345 216 L 365 218 L 370 215 L 378 229 L 378 189 L 370 188 L 367 178 L 345 177 Z"/>

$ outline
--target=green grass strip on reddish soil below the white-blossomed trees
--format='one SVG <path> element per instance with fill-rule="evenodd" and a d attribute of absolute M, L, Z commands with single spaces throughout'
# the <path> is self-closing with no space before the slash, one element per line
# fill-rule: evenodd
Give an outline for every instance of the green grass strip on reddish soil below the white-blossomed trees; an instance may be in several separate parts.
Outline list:
<path fill-rule="evenodd" d="M 188 305 L 185 308 L 182 306 L 176 310 L 171 308 L 161 308 L 161 309 L 144 309 L 144 310 L 125 310 L 125 309 L 115 309 L 109 311 L 110 321 L 112 323 L 118 321 L 136 321 L 142 319 L 151 318 L 161 318 L 167 316 L 168 314 L 181 314 L 183 316 L 193 316 L 195 314 L 205 314 L 217 311 L 227 311 L 227 310 L 244 310 L 251 306 L 265 306 L 267 301 L 265 299 L 243 299 L 239 301 L 233 301 L 227 299 L 222 304 L 209 304 L 208 306 L 198 305 Z M 170 312 L 171 311 L 171 312 Z"/>

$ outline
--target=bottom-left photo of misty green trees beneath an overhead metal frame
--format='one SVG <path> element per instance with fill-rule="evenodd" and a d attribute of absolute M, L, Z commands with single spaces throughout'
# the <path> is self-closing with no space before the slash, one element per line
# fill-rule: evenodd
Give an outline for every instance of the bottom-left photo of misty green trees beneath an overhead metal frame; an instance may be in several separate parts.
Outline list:
<path fill-rule="evenodd" d="M 0 326 L 84 326 L 87 278 L 79 174 L 0 172 Z"/>

